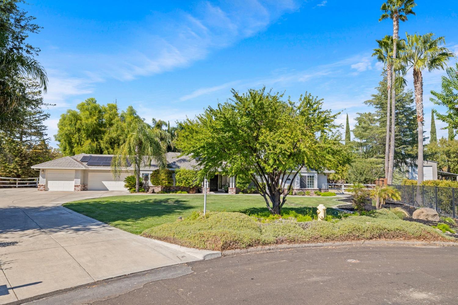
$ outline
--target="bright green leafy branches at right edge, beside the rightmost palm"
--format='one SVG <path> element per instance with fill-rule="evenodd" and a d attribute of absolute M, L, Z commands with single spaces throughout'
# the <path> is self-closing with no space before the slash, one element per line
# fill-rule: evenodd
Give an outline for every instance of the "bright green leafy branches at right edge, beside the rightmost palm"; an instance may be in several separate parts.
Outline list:
<path fill-rule="evenodd" d="M 448 123 L 453 129 L 458 129 L 458 63 L 455 68 L 447 68 L 447 76 L 442 75 L 441 92 L 431 91 L 430 100 L 436 105 L 446 107 L 446 113 L 435 111 L 438 119 Z"/>

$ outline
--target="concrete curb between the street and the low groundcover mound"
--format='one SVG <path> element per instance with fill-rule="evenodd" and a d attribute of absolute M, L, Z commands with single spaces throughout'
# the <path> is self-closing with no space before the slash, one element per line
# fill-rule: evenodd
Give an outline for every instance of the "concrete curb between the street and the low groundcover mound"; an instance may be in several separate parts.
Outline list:
<path fill-rule="evenodd" d="M 329 246 L 356 246 L 356 245 L 406 245 L 406 246 L 457 246 L 458 242 L 450 241 L 336 241 L 336 242 L 318 242 L 309 244 L 280 244 L 280 245 L 267 245 L 257 246 L 248 249 L 235 249 L 226 250 L 222 252 L 223 256 L 231 256 L 237 254 L 244 254 L 259 251 L 295 249 L 295 248 L 312 248 L 312 247 L 329 247 Z"/>

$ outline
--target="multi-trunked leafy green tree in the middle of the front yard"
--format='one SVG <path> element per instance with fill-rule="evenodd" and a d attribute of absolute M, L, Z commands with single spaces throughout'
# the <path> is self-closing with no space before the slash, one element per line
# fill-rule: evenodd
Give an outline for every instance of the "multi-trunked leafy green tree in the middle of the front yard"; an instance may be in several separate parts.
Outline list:
<path fill-rule="evenodd" d="M 221 170 L 250 176 L 267 209 L 280 214 L 302 168 L 324 171 L 350 162 L 348 146 L 333 130 L 337 114 L 322 109 L 322 100 L 305 94 L 297 102 L 262 88 L 240 94 L 188 119 L 177 146 L 199 162 L 200 177 Z"/>

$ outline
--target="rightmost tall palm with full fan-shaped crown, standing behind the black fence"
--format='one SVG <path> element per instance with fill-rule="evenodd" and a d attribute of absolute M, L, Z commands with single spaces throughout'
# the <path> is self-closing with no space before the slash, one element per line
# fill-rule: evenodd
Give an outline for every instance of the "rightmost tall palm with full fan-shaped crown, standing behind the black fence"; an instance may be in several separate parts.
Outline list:
<path fill-rule="evenodd" d="M 447 48 L 444 37 L 434 37 L 433 33 L 409 35 L 403 42 L 401 62 L 413 68 L 415 105 L 418 123 L 418 185 L 423 181 L 423 75 L 422 71 L 444 69 L 448 60 L 454 56 Z"/>

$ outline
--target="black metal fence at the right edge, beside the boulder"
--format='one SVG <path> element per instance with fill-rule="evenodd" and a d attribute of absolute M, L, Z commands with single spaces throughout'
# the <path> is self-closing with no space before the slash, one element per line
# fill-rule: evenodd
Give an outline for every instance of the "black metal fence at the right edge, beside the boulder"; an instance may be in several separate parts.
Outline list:
<path fill-rule="evenodd" d="M 425 185 L 392 185 L 401 193 L 401 203 L 435 209 L 445 217 L 457 217 L 458 189 Z"/>

